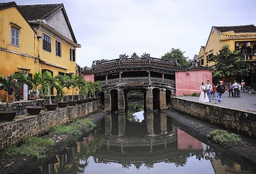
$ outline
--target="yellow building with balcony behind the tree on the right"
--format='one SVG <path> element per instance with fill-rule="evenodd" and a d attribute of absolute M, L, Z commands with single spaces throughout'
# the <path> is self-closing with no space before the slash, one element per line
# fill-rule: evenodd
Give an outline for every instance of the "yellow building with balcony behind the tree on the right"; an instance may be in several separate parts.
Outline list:
<path fill-rule="evenodd" d="M 199 63 L 202 66 L 214 66 L 214 62 L 207 63 L 208 58 L 219 53 L 226 45 L 229 45 L 231 51 L 240 50 L 240 56 L 249 60 L 249 76 L 243 77 L 246 85 L 256 83 L 256 26 L 212 26 L 206 45 L 200 48 Z"/>

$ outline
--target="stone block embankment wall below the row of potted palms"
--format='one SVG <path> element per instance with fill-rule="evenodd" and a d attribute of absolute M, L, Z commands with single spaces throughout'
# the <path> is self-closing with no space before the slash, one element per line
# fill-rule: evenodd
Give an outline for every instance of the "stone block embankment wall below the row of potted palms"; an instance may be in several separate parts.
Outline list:
<path fill-rule="evenodd" d="M 30 101 L 31 102 L 31 101 Z M 27 137 L 42 136 L 51 126 L 66 124 L 77 118 L 85 117 L 97 111 L 97 101 L 75 106 L 58 108 L 54 111 L 42 110 L 38 115 L 19 115 L 13 121 L 0 123 L 0 149 L 9 145 L 18 145 Z"/>

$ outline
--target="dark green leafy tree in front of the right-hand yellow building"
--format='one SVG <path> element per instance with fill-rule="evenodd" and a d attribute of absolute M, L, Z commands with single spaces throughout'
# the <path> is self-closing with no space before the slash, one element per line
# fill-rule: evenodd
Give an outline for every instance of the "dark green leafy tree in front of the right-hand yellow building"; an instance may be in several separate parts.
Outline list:
<path fill-rule="evenodd" d="M 211 56 L 208 62 L 214 61 L 215 67 L 212 77 L 240 77 L 248 76 L 248 60 L 239 56 L 239 50 L 231 51 L 229 46 L 224 46 L 217 55 Z"/>

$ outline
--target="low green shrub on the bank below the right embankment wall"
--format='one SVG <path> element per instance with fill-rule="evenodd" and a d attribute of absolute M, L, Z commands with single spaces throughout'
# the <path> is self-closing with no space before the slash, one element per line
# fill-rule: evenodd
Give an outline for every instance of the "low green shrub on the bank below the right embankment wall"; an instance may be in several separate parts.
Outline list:
<path fill-rule="evenodd" d="M 230 147 L 234 145 L 245 145 L 246 143 L 242 141 L 241 137 L 235 133 L 228 133 L 226 130 L 215 129 L 211 131 L 208 135 L 216 143 L 224 147 Z"/>

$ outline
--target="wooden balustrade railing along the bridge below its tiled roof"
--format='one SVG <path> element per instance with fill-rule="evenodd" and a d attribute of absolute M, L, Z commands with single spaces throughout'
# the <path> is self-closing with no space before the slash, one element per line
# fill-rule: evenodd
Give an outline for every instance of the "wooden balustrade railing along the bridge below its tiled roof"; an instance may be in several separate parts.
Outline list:
<path fill-rule="evenodd" d="M 121 77 L 121 82 L 125 82 L 125 81 L 154 81 L 154 82 L 163 83 L 163 78 L 161 78 L 161 77 L 150 77 L 150 80 L 149 80 L 148 76 Z M 119 78 L 107 79 L 107 84 L 112 84 L 112 83 L 117 83 L 117 82 L 119 82 Z M 164 78 L 164 83 L 175 84 L 175 80 Z M 106 85 L 106 81 L 102 80 L 102 81 L 100 81 L 100 84 L 101 85 Z"/>

